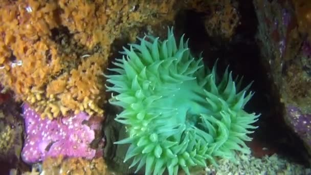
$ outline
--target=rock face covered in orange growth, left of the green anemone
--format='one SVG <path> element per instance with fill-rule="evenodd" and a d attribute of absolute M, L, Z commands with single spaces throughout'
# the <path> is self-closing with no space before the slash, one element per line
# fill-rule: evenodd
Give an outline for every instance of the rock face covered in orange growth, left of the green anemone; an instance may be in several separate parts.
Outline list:
<path fill-rule="evenodd" d="M 0 79 L 50 119 L 103 114 L 111 44 L 172 20 L 175 1 L 2 1 Z"/>

